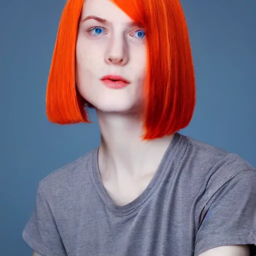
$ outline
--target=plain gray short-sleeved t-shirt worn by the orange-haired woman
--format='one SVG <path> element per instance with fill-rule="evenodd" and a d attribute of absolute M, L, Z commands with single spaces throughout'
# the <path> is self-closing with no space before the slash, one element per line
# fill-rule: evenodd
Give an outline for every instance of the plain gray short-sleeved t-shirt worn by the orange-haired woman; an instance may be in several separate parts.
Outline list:
<path fill-rule="evenodd" d="M 39 182 L 22 236 L 42 256 L 197 256 L 256 244 L 256 169 L 238 155 L 175 133 L 146 189 L 118 206 L 97 153 Z"/>

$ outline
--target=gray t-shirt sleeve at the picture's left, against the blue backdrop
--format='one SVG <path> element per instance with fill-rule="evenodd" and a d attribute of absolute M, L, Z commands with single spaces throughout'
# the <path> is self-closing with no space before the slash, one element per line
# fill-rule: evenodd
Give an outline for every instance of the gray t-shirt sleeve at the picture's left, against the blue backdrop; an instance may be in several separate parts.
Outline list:
<path fill-rule="evenodd" d="M 35 207 L 23 229 L 22 237 L 41 256 L 66 256 L 51 209 L 39 185 Z"/>

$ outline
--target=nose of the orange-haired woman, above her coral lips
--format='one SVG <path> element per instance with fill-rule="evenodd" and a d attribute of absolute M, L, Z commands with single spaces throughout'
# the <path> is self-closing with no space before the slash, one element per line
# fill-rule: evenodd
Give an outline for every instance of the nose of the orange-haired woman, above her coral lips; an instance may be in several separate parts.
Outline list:
<path fill-rule="evenodd" d="M 123 35 L 113 35 L 109 38 L 105 62 L 109 65 L 121 66 L 128 62 L 128 45 Z"/>

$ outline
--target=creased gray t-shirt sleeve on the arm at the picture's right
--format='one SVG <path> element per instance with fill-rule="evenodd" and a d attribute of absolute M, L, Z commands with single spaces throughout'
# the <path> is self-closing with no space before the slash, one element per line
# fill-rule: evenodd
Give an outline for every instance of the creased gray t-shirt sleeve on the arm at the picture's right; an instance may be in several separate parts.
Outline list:
<path fill-rule="evenodd" d="M 194 256 L 238 244 L 256 244 L 256 170 L 237 173 L 211 196 L 196 234 Z M 250 249 L 254 255 L 255 245 Z"/>

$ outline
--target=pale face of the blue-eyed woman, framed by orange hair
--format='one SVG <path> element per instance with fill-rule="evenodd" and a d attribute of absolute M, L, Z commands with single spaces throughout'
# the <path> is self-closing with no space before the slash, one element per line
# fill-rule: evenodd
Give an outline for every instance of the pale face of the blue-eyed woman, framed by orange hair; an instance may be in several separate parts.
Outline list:
<path fill-rule="evenodd" d="M 101 111 L 137 111 L 144 104 L 145 75 L 143 28 L 110 0 L 85 0 L 76 42 L 81 96 Z"/>

